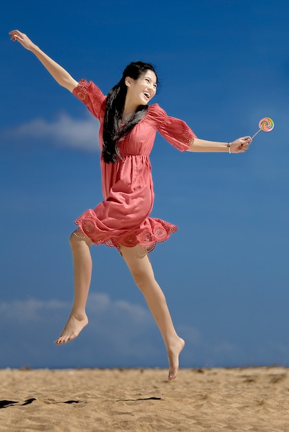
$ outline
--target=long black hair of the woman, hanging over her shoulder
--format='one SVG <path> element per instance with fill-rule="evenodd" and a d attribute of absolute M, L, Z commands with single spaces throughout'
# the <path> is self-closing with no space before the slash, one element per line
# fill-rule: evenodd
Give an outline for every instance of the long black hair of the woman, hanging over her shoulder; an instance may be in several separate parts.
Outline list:
<path fill-rule="evenodd" d="M 112 87 L 106 98 L 106 113 L 104 116 L 103 123 L 103 150 L 102 158 L 103 161 L 108 164 L 112 162 L 115 164 L 120 157 L 118 142 L 121 138 L 128 135 L 128 133 L 134 128 L 134 126 L 143 118 L 148 109 L 147 105 L 140 105 L 134 112 L 134 115 L 130 120 L 123 125 L 121 128 L 121 118 L 123 116 L 124 103 L 126 101 L 126 92 L 128 87 L 126 86 L 126 77 L 132 79 L 138 79 L 146 72 L 146 70 L 155 69 L 150 63 L 143 63 L 142 61 L 136 61 L 130 63 L 123 70 L 123 75 L 119 83 Z M 156 72 L 155 72 L 156 73 Z"/>

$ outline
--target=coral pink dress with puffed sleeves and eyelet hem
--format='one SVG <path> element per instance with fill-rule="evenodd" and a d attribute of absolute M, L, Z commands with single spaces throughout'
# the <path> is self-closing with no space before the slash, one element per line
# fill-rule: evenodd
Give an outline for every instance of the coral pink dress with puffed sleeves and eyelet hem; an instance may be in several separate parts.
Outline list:
<path fill-rule="evenodd" d="M 99 144 L 102 147 L 103 120 L 106 96 L 92 82 L 81 79 L 73 90 L 74 96 L 86 104 L 100 122 Z M 178 150 L 188 150 L 194 132 L 182 120 L 168 117 L 158 105 L 148 107 L 146 115 L 130 134 L 119 143 L 122 160 L 106 164 L 101 159 L 104 201 L 94 210 L 86 210 L 75 224 L 95 244 L 133 247 L 137 244 L 152 251 L 175 233 L 177 226 L 149 217 L 154 202 L 150 151 L 157 130 Z"/>

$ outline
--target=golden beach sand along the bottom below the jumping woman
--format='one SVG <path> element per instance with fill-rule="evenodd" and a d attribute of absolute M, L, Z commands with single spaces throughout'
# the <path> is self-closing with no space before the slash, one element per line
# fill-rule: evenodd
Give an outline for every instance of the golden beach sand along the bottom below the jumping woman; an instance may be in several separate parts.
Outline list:
<path fill-rule="evenodd" d="M 283 367 L 0 370 L 0 431 L 289 431 Z"/>

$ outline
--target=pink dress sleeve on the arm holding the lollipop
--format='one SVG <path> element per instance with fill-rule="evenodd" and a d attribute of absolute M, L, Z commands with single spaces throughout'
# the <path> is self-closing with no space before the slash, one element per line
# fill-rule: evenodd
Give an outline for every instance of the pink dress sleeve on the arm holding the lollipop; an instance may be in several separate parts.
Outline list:
<path fill-rule="evenodd" d="M 150 108 L 152 108 L 150 112 L 155 117 L 157 130 L 161 136 L 181 152 L 188 150 L 190 141 L 197 136 L 185 121 L 168 116 L 158 104 L 154 104 Z"/>

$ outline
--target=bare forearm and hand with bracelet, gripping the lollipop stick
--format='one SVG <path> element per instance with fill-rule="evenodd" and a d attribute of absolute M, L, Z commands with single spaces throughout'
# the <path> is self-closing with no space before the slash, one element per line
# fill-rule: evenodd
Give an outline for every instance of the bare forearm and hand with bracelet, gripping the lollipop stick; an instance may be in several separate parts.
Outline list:
<path fill-rule="evenodd" d="M 188 152 L 225 152 L 225 153 L 243 153 L 248 150 L 252 142 L 251 137 L 241 137 L 235 141 L 217 142 L 206 141 L 205 139 L 191 139 Z"/>

